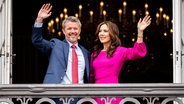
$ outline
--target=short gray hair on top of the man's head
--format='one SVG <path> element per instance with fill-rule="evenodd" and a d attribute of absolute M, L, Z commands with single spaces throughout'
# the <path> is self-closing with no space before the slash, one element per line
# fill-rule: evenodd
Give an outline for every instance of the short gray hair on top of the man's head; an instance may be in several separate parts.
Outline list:
<path fill-rule="evenodd" d="M 80 28 L 82 27 L 82 24 L 81 24 L 80 20 L 79 20 L 77 17 L 75 17 L 75 16 L 69 16 L 69 17 L 65 18 L 65 19 L 63 20 L 63 22 L 62 22 L 62 28 L 63 28 L 63 29 L 65 28 L 65 23 L 66 23 L 67 21 L 70 21 L 70 22 L 78 22 Z"/>

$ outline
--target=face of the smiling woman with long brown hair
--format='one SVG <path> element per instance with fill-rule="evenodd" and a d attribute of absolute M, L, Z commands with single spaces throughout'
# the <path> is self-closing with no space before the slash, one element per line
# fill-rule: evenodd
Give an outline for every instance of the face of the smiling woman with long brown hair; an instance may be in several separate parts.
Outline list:
<path fill-rule="evenodd" d="M 111 42 L 109 28 L 107 27 L 106 24 L 103 24 L 100 27 L 100 30 L 99 30 L 99 33 L 98 33 L 98 37 L 99 37 L 100 42 L 102 44 L 109 44 Z"/>

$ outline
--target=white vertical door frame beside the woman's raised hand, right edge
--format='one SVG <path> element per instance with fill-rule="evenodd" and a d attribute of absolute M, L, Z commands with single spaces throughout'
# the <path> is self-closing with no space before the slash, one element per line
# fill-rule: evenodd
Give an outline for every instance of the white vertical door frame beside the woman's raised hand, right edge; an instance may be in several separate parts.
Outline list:
<path fill-rule="evenodd" d="M 182 82 L 181 70 L 181 0 L 173 0 L 173 82 Z"/>

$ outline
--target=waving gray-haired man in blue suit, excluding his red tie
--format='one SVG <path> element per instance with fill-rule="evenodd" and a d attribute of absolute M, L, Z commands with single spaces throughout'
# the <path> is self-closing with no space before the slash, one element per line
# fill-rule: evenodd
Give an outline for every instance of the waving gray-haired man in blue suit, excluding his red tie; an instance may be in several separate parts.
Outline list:
<path fill-rule="evenodd" d="M 90 53 L 78 44 L 78 36 L 81 33 L 81 22 L 74 16 L 69 16 L 62 23 L 64 40 L 42 37 L 43 20 L 51 16 L 52 5 L 43 4 L 38 12 L 34 26 L 32 27 L 32 43 L 41 52 L 48 54 L 49 65 L 43 83 L 73 84 L 72 82 L 72 45 L 76 46 L 78 76 L 75 84 L 89 82 Z"/>

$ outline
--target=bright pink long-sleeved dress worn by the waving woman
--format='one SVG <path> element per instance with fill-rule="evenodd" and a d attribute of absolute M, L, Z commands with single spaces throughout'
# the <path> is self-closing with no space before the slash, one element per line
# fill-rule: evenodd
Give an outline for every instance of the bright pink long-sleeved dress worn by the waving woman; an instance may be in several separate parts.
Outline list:
<path fill-rule="evenodd" d="M 90 62 L 90 81 L 96 84 L 118 84 L 118 75 L 126 60 L 143 58 L 147 49 L 144 42 L 135 42 L 132 48 L 118 46 L 113 57 L 107 58 L 106 51 L 101 51 L 95 59 Z M 94 53 L 92 53 L 93 57 Z M 95 99 L 98 104 L 105 104 L 100 98 Z M 119 104 L 122 98 L 112 100 L 111 104 Z"/>

